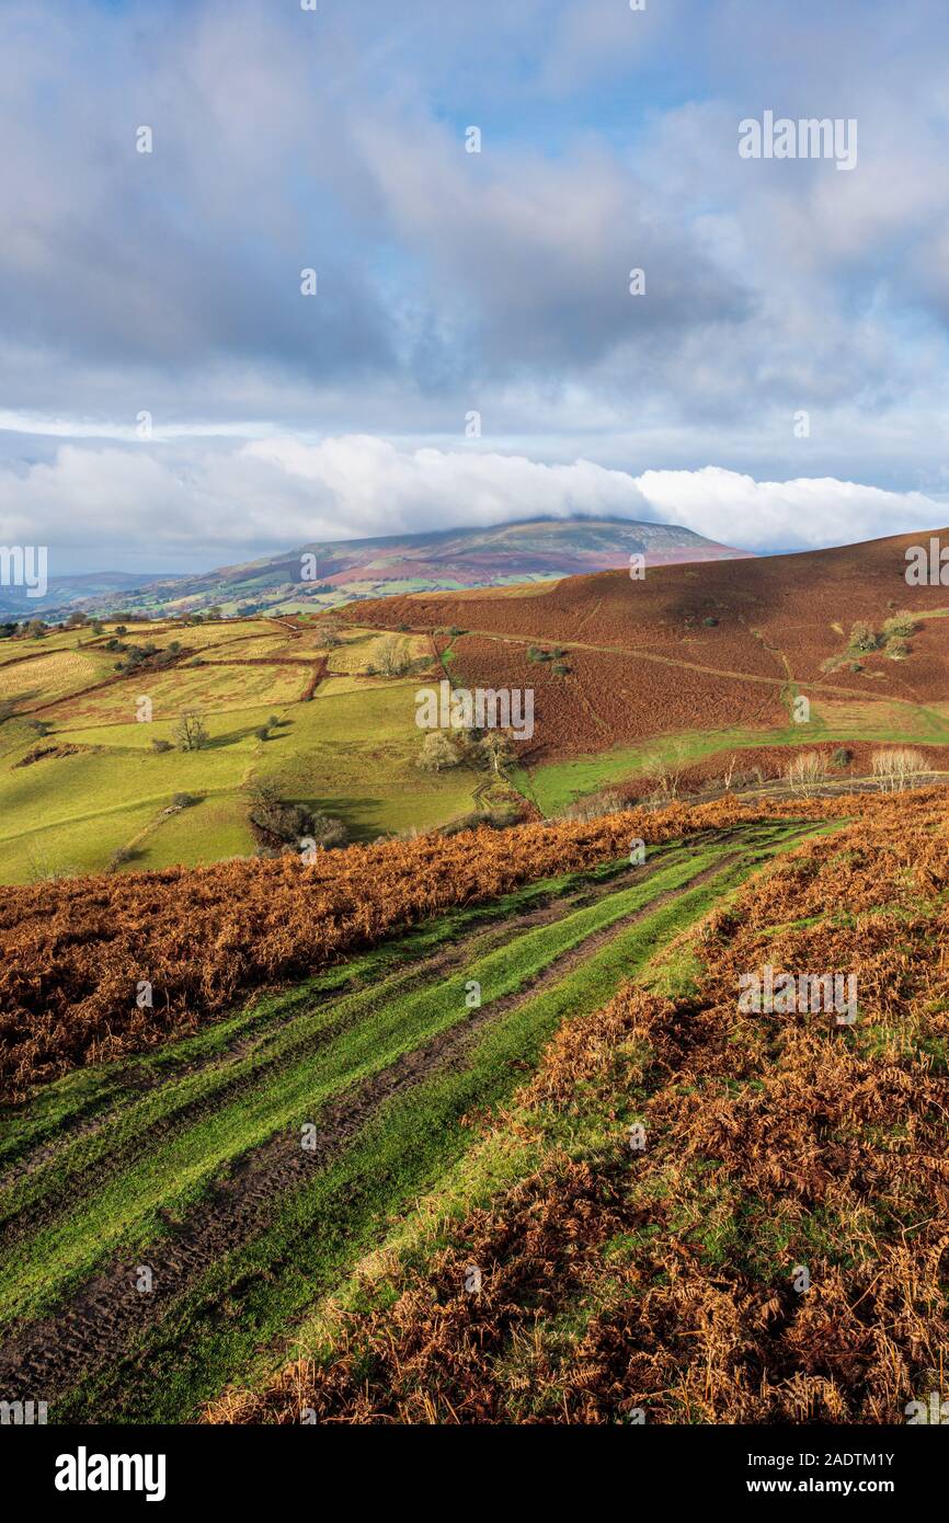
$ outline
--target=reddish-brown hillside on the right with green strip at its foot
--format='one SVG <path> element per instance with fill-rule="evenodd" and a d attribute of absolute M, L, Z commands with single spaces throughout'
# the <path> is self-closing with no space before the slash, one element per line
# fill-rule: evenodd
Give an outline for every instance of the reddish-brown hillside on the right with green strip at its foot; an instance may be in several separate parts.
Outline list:
<path fill-rule="evenodd" d="M 455 685 L 533 688 L 522 783 L 547 813 L 641 777 L 647 752 L 676 749 L 689 766 L 807 742 L 944 746 L 949 591 L 905 580 L 905 550 L 928 539 L 390 597 L 358 617 L 436 634 Z M 899 611 L 914 615 L 902 641 L 883 627 Z M 861 621 L 876 643 L 855 649 Z"/>

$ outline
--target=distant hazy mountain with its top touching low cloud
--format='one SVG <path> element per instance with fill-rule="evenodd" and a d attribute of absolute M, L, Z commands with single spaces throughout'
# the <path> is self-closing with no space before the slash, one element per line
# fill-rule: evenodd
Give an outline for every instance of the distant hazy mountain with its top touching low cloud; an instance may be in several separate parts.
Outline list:
<path fill-rule="evenodd" d="M 215 606 L 227 614 L 297 612 L 405 592 L 548 582 L 628 567 L 634 554 L 658 567 L 745 557 L 748 551 L 714 544 L 676 524 L 535 518 L 492 528 L 321 539 L 201 576 L 64 577 L 50 580 L 46 599 L 0 588 L 0 614 L 49 618 L 75 608 L 111 611 L 119 603 L 123 611 L 142 614 L 200 612 Z"/>

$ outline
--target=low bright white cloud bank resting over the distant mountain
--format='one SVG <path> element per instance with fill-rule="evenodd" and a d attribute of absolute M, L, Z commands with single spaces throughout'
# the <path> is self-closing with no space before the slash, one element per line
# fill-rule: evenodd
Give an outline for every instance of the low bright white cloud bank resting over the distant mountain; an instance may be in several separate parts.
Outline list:
<path fill-rule="evenodd" d="M 500 524 L 538 515 L 682 524 L 740 548 L 795 550 L 940 527 L 922 492 L 833 477 L 756 481 L 705 466 L 632 475 L 591 460 L 401 448 L 347 434 L 241 448 L 61 445 L 49 461 L 0 468 L 0 542 L 46 544 L 50 571 L 187 570 L 312 539 Z M 78 553 L 78 547 L 81 551 Z M 55 562 L 55 564 L 53 564 Z"/>

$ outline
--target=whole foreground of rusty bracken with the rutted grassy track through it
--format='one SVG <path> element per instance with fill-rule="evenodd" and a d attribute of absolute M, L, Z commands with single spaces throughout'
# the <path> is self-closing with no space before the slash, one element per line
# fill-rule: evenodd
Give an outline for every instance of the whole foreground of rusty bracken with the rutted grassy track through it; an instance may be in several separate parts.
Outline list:
<path fill-rule="evenodd" d="M 949 1331 L 944 804 L 12 889 L 0 1037 L 41 1083 L 0 1130 L 0 1387 L 50 1421 L 893 1421 Z M 858 1022 L 739 1014 L 763 961 L 858 967 Z M 64 1049 L 59 999 L 110 1039 Z"/>

